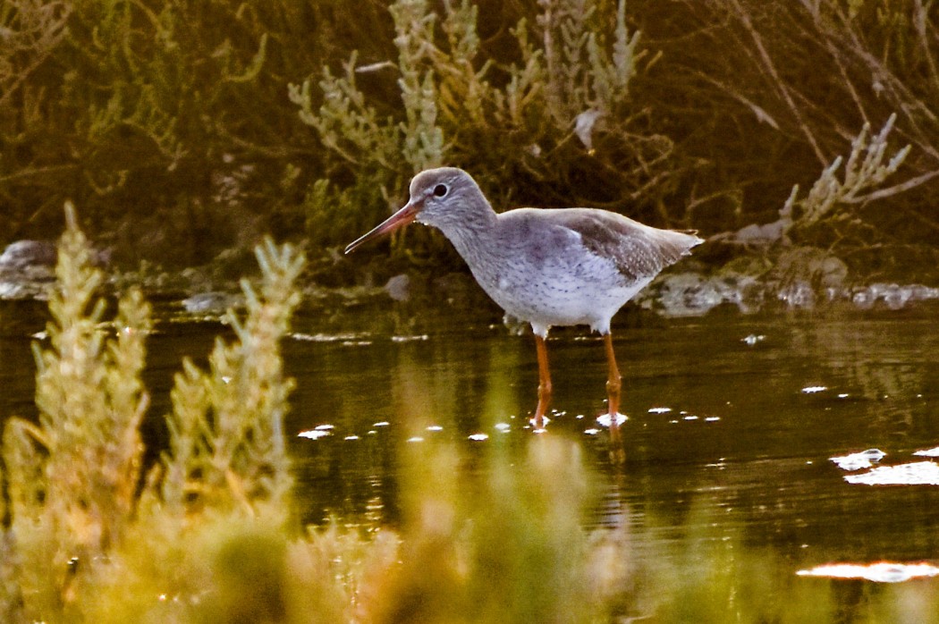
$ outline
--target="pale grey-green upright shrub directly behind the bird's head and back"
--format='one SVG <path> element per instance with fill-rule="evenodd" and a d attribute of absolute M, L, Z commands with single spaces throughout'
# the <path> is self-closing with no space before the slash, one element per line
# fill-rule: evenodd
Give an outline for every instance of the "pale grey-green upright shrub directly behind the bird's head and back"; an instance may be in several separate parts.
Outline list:
<path fill-rule="evenodd" d="M 622 208 L 650 186 L 670 142 L 634 129 L 641 115 L 629 84 L 644 53 L 624 2 L 611 14 L 590 0 L 543 0 L 538 8 L 511 26 L 510 41 L 484 47 L 469 0 L 441 13 L 425 0 L 400 0 L 390 7 L 396 63 L 360 66 L 353 52 L 341 76 L 323 69 L 321 96 L 312 80 L 291 85 L 300 117 L 333 157 L 329 175 L 345 177 L 335 168 L 351 167 L 357 187 L 386 199 L 373 204 L 376 212 L 354 213 L 365 217 L 360 229 L 382 216 L 388 197 L 404 194 L 411 175 L 444 163 L 485 175 L 497 201 L 565 184 L 568 201 Z M 397 101 L 383 94 L 373 102 L 358 77 L 388 72 L 399 76 Z M 597 175 L 613 179 L 597 185 Z M 309 209 L 350 212 L 349 199 L 333 191 Z"/>

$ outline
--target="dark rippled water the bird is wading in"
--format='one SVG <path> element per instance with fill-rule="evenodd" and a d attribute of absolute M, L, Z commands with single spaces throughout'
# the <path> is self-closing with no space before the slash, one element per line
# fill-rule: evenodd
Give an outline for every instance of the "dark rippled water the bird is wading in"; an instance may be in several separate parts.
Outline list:
<path fill-rule="evenodd" d="M 582 442 L 601 482 L 588 520 L 627 522 L 659 551 L 696 526 L 769 546 L 794 570 L 828 561 L 939 558 L 939 489 L 848 483 L 830 457 L 878 448 L 882 464 L 939 445 L 935 310 L 660 319 L 614 327 L 626 463 L 608 463 L 602 342 L 580 329 L 548 342 L 558 410 L 549 434 Z M 7 311 L 9 318 L 10 312 Z M 29 330 L 0 339 L 0 414 L 29 415 Z M 172 374 L 204 358 L 215 323 L 162 323 L 150 343 L 151 446 L 164 436 Z M 300 315 L 285 344 L 297 379 L 288 418 L 306 518 L 397 519 L 398 455 L 414 437 L 469 454 L 523 443 L 535 403 L 531 335 L 491 310 L 414 316 L 392 307 Z M 296 436 L 317 426 L 319 439 Z M 470 435 L 486 434 L 473 440 Z M 502 437 L 500 437 L 502 436 Z"/>

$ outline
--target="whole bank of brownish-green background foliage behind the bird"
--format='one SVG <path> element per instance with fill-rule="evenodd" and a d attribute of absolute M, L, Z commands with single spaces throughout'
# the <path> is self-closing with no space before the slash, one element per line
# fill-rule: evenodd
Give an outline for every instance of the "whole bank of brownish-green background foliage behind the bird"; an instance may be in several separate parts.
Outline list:
<path fill-rule="evenodd" d="M 265 231 L 327 259 L 443 163 L 500 207 L 710 235 L 773 221 L 892 114 L 907 157 L 795 242 L 920 257 L 939 236 L 921 0 L 7 0 L 0 32 L 9 240 L 53 236 L 72 199 L 125 263 L 198 265 Z M 416 232 L 399 257 L 448 249 Z"/>

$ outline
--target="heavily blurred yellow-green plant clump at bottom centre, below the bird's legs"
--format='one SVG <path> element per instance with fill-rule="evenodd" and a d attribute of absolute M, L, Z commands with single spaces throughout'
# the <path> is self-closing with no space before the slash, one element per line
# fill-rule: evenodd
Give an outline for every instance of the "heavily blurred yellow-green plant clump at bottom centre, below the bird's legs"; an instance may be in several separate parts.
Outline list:
<path fill-rule="evenodd" d="M 497 453 L 481 484 L 453 449 L 408 455 L 401 565 L 366 621 L 607 621 L 627 588 L 626 541 L 581 525 L 590 496 L 577 443 L 531 440 L 518 463 Z"/>

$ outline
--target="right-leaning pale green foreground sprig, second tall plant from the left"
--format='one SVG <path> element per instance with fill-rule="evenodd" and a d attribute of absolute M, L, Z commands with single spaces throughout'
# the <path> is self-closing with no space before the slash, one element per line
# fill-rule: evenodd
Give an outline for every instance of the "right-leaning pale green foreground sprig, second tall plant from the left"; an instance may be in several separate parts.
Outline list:
<path fill-rule="evenodd" d="M 216 341 L 208 373 L 189 359 L 177 373 L 162 501 L 178 513 L 286 507 L 292 479 L 283 427 L 292 381 L 284 377 L 279 342 L 300 303 L 293 283 L 304 260 L 269 239 L 256 255 L 265 278 L 260 295 L 242 280 L 247 318 L 227 314 L 236 342 Z"/>

